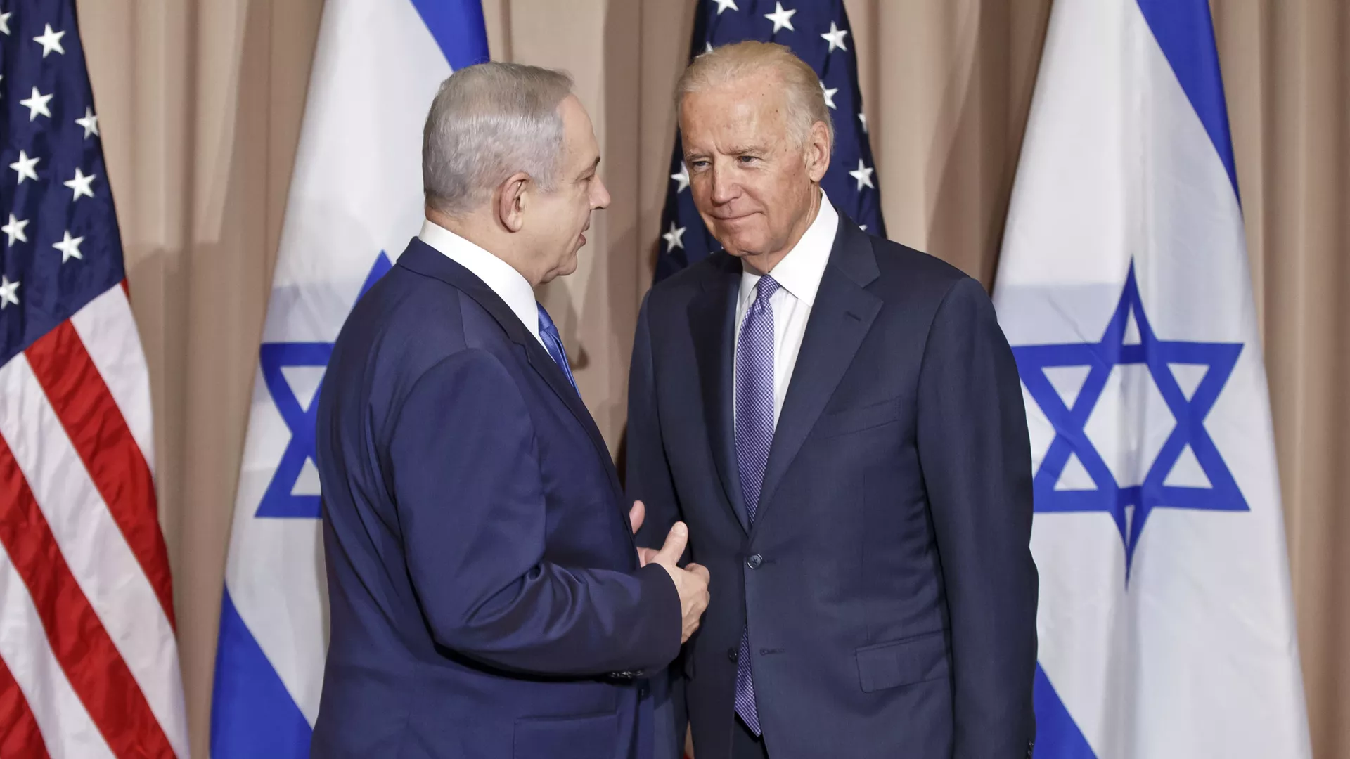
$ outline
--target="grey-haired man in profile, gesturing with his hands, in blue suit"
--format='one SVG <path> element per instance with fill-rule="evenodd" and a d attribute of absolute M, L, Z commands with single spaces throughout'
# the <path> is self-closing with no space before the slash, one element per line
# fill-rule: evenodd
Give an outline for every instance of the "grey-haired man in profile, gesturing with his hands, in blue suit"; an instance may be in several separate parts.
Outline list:
<path fill-rule="evenodd" d="M 313 756 L 645 759 L 648 673 L 697 628 L 687 531 L 640 559 L 533 286 L 609 204 L 564 74 L 462 69 L 427 223 L 356 304 L 319 401 L 332 635 Z M 644 718 L 644 712 L 647 717 Z"/>

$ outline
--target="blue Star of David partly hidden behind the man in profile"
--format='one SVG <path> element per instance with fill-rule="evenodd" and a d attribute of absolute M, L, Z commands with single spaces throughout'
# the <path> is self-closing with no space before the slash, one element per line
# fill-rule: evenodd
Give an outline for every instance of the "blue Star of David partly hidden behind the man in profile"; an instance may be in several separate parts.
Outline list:
<path fill-rule="evenodd" d="M 379 251 L 356 300 L 360 300 L 360 296 L 366 294 L 366 290 L 392 266 L 385 251 Z M 309 405 L 301 407 L 281 370 L 288 366 L 328 366 L 328 357 L 332 352 L 332 343 L 263 343 L 258 351 L 263 382 L 271 394 L 271 402 L 277 405 L 277 412 L 290 429 L 290 442 L 277 462 L 277 471 L 273 473 L 267 490 L 258 501 L 258 511 L 254 512 L 256 517 L 319 519 L 320 516 L 319 496 L 297 496 L 293 490 L 300 473 L 305 469 L 305 461 L 315 459 L 315 425 L 323 380 L 319 381 Z"/>

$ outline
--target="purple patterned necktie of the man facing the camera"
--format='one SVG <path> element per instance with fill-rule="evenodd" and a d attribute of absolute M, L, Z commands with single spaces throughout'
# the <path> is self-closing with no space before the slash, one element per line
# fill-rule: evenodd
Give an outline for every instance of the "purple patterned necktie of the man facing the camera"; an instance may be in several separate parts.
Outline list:
<path fill-rule="evenodd" d="M 764 485 L 768 448 L 774 443 L 774 307 L 770 298 L 778 289 L 779 284 L 772 277 L 760 278 L 736 346 L 736 463 L 745 515 L 752 525 Z M 741 650 L 736 656 L 736 713 L 755 735 L 760 735 L 749 628 L 741 631 Z"/>

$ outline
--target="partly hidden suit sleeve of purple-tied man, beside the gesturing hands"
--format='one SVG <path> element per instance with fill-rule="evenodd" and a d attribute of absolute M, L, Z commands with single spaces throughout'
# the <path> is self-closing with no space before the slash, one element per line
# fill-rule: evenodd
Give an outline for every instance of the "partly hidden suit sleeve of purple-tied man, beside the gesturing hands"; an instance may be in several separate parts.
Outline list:
<path fill-rule="evenodd" d="M 633 338 L 633 361 L 628 373 L 628 466 L 629 500 L 643 501 L 647 520 L 637 532 L 637 544 L 660 548 L 671 525 L 683 519 L 675 497 L 675 479 L 662 440 L 660 413 L 656 408 L 656 371 L 652 362 L 649 312 L 651 292 L 643 298 Z M 688 552 L 686 551 L 686 558 Z M 687 654 L 686 654 L 687 655 Z M 678 759 L 684 755 L 684 678 L 679 666 L 652 677 L 652 717 L 655 720 L 655 759 Z"/>

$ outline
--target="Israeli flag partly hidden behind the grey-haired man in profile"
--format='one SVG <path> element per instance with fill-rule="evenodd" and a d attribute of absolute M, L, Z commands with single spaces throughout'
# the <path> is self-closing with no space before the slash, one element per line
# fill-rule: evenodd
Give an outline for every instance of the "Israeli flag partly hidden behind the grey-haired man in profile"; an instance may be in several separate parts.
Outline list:
<path fill-rule="evenodd" d="M 352 304 L 421 227 L 437 86 L 486 59 L 479 0 L 324 4 L 235 498 L 215 759 L 309 756 L 328 648 L 315 400 Z"/>

